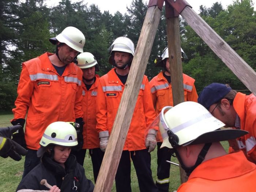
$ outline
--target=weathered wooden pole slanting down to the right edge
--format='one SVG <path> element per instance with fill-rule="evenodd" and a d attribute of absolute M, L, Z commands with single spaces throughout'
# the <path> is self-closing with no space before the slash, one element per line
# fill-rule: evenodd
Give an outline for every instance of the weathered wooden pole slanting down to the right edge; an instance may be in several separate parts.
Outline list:
<path fill-rule="evenodd" d="M 192 8 L 186 6 L 180 14 L 237 78 L 256 95 L 256 72 Z"/>

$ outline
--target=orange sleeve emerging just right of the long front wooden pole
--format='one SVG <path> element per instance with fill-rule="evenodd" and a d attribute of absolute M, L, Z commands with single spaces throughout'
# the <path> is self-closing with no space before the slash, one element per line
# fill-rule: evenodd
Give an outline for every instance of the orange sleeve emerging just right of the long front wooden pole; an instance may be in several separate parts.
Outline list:
<path fill-rule="evenodd" d="M 144 113 L 146 117 L 146 124 L 148 126 L 155 119 L 155 110 L 152 102 L 148 79 L 146 79 L 145 89 L 143 91 L 143 107 L 144 107 Z"/>

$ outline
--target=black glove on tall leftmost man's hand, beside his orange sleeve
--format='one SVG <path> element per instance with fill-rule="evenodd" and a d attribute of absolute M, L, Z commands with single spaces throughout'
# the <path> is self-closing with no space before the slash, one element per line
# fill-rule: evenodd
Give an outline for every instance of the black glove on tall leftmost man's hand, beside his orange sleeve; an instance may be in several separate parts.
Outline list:
<path fill-rule="evenodd" d="M 18 132 L 15 132 L 12 134 L 12 140 L 14 140 L 16 143 L 20 144 L 22 147 L 26 148 L 26 141 L 25 141 L 25 134 L 24 134 L 24 124 L 25 119 L 18 118 L 16 121 L 11 122 L 12 125 L 21 125 L 22 129 L 19 129 Z"/>

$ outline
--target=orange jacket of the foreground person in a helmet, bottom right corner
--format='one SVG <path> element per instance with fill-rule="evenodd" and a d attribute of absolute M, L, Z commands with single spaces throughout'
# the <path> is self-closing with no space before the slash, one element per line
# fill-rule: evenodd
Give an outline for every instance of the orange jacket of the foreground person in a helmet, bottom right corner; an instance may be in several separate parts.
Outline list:
<path fill-rule="evenodd" d="M 256 165 L 242 151 L 223 155 L 196 167 L 177 192 L 255 191 Z"/>

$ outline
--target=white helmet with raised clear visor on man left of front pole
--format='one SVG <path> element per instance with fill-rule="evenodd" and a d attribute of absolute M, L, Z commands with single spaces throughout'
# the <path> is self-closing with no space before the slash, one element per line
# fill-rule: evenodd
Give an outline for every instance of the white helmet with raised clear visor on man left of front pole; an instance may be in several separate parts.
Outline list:
<path fill-rule="evenodd" d="M 128 37 L 118 37 L 114 40 L 112 45 L 108 48 L 109 53 L 111 54 L 112 51 L 120 51 L 131 53 L 134 56 L 135 46 L 131 39 Z"/>

